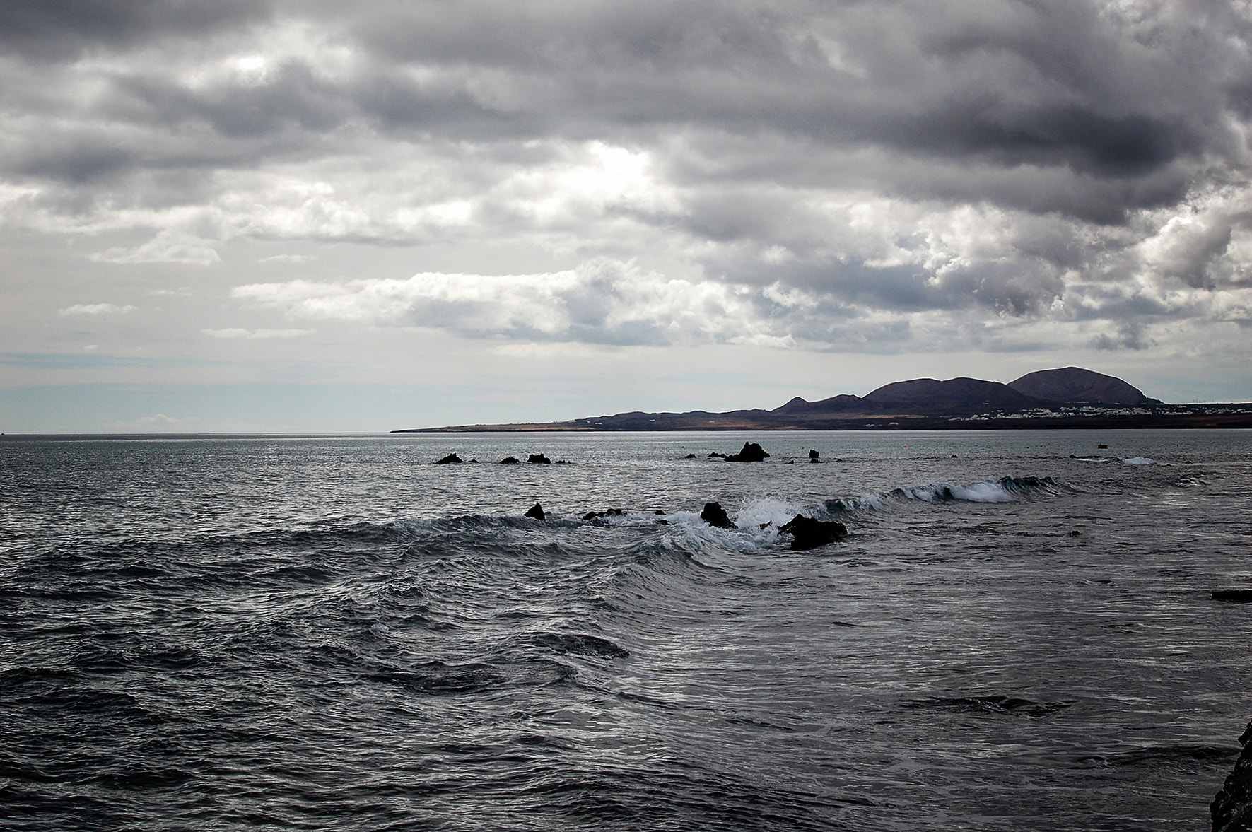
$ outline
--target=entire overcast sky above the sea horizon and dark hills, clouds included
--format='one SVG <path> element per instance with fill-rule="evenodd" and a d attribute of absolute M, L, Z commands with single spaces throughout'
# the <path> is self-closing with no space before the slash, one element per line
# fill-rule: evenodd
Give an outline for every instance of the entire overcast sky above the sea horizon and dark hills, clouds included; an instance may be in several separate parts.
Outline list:
<path fill-rule="evenodd" d="M 5 0 L 0 430 L 1252 399 L 1248 3 Z"/>

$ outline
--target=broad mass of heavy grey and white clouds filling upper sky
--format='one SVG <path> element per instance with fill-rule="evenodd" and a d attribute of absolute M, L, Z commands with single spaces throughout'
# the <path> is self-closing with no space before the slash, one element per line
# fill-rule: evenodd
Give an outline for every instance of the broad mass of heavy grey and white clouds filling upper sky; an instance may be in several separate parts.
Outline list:
<path fill-rule="evenodd" d="M 1038 325 L 1122 349 L 1248 308 L 1246 4 L 3 14 L 0 226 L 150 236 L 89 255 L 110 264 L 282 245 L 260 261 L 308 279 L 234 298 L 292 318 L 859 350 Z M 336 279 L 336 245 L 443 270 Z"/>

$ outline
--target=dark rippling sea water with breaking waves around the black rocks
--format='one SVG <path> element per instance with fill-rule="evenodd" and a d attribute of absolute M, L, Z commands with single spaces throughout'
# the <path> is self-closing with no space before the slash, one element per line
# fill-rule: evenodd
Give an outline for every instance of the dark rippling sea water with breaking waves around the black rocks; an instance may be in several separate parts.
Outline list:
<path fill-rule="evenodd" d="M 1206 829 L 1234 586 L 1246 432 L 3 437 L 0 828 Z"/>

